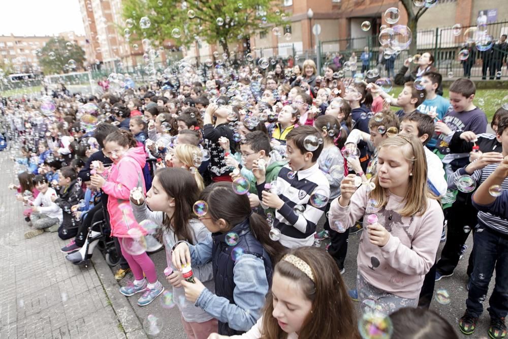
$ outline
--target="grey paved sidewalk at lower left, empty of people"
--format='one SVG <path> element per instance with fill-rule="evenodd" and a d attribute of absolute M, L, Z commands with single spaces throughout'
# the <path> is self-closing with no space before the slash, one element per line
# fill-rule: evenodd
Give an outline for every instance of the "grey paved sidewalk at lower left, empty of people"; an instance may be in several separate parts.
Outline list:
<path fill-rule="evenodd" d="M 9 156 L 0 152 L 0 284 L 4 286 L 0 338 L 126 337 L 95 265 L 78 267 L 65 260 L 60 253 L 65 241 L 56 233 L 24 238 L 29 227 L 23 206 L 7 189 L 15 182 Z M 104 262 L 100 253 L 94 259 Z"/>

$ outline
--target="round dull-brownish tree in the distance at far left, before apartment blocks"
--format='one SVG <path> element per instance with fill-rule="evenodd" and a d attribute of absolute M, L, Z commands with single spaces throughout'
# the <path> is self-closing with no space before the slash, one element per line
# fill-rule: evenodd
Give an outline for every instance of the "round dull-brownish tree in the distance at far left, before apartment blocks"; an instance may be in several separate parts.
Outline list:
<path fill-rule="evenodd" d="M 56 37 L 37 53 L 44 74 L 60 74 L 83 69 L 85 51 L 70 41 Z"/>

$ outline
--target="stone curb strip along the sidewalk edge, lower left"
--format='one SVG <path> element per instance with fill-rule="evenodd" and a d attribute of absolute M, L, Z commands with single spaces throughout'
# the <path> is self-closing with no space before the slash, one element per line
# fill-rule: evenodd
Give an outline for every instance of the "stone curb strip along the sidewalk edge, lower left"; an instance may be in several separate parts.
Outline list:
<path fill-rule="evenodd" d="M 99 258 L 99 260 L 92 261 L 93 267 L 97 272 L 106 295 L 111 301 L 111 307 L 122 325 L 126 337 L 130 339 L 148 338 L 132 305 L 118 292 L 119 285 L 106 260 L 104 260 L 102 254 L 97 255 L 96 258 Z"/>

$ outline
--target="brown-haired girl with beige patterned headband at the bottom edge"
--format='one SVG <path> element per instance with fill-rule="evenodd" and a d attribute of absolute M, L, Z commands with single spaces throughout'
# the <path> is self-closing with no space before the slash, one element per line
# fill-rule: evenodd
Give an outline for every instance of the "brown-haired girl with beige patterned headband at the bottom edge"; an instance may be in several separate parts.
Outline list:
<path fill-rule="evenodd" d="M 208 337 L 223 338 L 357 339 L 360 335 L 337 265 L 325 251 L 302 247 L 288 252 L 275 266 L 272 289 L 258 322 L 243 335 Z"/>

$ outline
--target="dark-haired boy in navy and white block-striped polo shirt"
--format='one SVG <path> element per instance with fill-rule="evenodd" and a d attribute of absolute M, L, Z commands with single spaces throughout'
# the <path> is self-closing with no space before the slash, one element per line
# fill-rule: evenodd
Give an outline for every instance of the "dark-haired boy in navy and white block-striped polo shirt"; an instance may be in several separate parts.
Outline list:
<path fill-rule="evenodd" d="M 323 140 L 314 127 L 300 126 L 288 134 L 286 146 L 289 163 L 277 176 L 278 192 L 265 189 L 263 168 L 257 161 L 252 164 L 258 197 L 263 207 L 276 209 L 273 227 L 280 230 L 282 245 L 311 246 L 316 224 L 330 199 L 330 184 L 317 164 Z"/>

